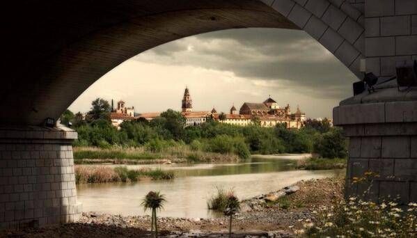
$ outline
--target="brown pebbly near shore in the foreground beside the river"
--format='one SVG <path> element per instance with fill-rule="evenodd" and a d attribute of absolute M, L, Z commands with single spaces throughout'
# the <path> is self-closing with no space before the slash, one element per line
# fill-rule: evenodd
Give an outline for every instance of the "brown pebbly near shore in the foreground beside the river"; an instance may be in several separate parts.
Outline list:
<path fill-rule="evenodd" d="M 343 179 L 326 178 L 307 180 L 295 184 L 299 190 L 288 196 L 288 206 L 280 203 L 250 206 L 253 200 L 244 201 L 242 212 L 233 220 L 234 237 L 294 237 L 306 221 L 315 219 L 315 211 L 322 205 L 330 206 L 334 200 L 343 199 Z M 169 198 L 167 198 L 169 200 Z M 281 203 L 283 203 L 281 201 Z M 163 211 L 162 211 L 163 212 Z M 228 221 L 217 219 L 159 218 L 162 235 L 171 237 L 219 237 L 226 236 Z M 56 225 L 48 228 L 6 231 L 0 236 L 21 237 L 140 237 L 150 235 L 149 216 L 120 216 L 83 213 L 78 223 Z"/>

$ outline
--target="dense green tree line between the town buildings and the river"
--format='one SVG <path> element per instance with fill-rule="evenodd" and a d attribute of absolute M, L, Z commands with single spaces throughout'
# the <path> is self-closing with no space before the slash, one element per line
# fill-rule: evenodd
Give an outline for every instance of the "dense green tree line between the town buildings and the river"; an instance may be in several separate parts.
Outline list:
<path fill-rule="evenodd" d="M 347 143 L 338 127 L 331 127 L 329 120 L 306 120 L 301 129 L 288 129 L 285 125 L 260 127 L 254 123 L 246 127 L 228 125 L 207 118 L 207 122 L 184 127 L 185 118 L 178 111 L 168 109 L 154 120 L 145 118 L 125 121 L 116 129 L 111 125 L 111 108 L 106 100 L 97 98 L 85 120 L 81 113 L 67 110 L 61 116 L 63 125 L 70 125 L 78 132 L 74 146 L 112 145 L 129 147 L 147 146 L 150 150 L 184 143 L 195 150 L 234 153 L 247 158 L 250 154 L 306 153 L 313 152 L 325 158 L 347 156 Z"/>

